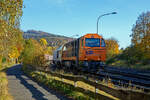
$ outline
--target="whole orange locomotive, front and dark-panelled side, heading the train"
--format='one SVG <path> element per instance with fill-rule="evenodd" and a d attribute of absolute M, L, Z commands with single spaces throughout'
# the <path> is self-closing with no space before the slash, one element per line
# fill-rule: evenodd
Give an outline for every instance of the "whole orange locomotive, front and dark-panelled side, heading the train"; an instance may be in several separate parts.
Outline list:
<path fill-rule="evenodd" d="M 86 34 L 64 44 L 59 55 L 60 63 L 67 68 L 96 70 L 106 60 L 105 41 L 98 34 Z"/>

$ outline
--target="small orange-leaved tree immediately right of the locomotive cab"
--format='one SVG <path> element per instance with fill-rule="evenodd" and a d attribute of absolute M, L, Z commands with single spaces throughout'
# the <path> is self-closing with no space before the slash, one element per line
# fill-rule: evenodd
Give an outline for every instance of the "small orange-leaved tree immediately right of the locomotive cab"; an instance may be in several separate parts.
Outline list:
<path fill-rule="evenodd" d="M 114 38 L 106 39 L 105 42 L 108 59 L 119 54 L 119 44 L 116 39 Z"/>

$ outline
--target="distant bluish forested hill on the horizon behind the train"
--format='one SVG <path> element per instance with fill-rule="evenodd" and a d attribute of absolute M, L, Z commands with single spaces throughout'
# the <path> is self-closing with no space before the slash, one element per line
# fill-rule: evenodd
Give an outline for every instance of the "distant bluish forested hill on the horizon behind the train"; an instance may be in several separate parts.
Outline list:
<path fill-rule="evenodd" d="M 66 36 L 36 30 L 27 30 L 26 32 L 24 32 L 23 37 L 25 39 L 33 38 L 36 40 L 40 40 L 40 38 L 45 38 L 49 46 L 60 46 L 66 43 L 68 40 L 72 39 Z"/>

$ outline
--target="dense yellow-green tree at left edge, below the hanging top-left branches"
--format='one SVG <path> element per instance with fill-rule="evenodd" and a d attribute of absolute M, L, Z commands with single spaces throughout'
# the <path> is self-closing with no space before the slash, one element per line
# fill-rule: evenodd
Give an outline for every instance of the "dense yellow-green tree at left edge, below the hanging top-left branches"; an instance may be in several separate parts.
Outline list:
<path fill-rule="evenodd" d="M 8 25 L 5 21 L 1 21 L 0 38 L 0 55 L 2 57 L 10 57 L 8 54 L 12 51 L 12 47 L 17 48 L 18 52 L 21 53 L 23 37 L 19 29 Z"/>

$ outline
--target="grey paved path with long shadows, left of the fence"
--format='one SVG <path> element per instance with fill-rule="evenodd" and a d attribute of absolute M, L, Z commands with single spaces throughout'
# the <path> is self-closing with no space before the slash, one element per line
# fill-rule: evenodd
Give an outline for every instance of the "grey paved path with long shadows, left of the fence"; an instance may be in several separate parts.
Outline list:
<path fill-rule="evenodd" d="M 27 77 L 21 71 L 21 65 L 9 68 L 7 77 L 9 93 L 14 100 L 69 100 Z"/>

